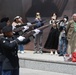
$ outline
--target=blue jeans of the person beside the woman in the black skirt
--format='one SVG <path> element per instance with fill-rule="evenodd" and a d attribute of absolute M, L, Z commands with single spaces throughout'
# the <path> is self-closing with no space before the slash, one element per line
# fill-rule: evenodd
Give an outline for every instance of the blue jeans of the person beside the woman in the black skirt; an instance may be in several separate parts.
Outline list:
<path fill-rule="evenodd" d="M 67 40 L 61 39 L 59 40 L 59 53 L 60 54 L 66 54 L 67 50 Z"/>

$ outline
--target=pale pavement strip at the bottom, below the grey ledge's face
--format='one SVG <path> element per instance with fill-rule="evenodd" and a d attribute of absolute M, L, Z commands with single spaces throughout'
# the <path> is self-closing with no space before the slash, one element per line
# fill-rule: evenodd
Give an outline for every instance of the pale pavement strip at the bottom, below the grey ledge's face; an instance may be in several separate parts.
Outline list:
<path fill-rule="evenodd" d="M 71 74 L 20 68 L 20 75 L 71 75 Z"/>

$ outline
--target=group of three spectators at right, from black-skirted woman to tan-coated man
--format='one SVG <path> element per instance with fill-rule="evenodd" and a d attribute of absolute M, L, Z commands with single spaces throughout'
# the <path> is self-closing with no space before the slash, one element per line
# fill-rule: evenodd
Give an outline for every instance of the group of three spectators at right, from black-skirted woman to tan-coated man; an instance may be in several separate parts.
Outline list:
<path fill-rule="evenodd" d="M 49 49 L 51 54 L 59 54 L 59 56 L 76 51 L 76 13 L 72 15 L 72 20 L 69 20 L 67 15 L 58 20 L 54 13 L 50 24 L 51 29 L 44 48 Z"/>

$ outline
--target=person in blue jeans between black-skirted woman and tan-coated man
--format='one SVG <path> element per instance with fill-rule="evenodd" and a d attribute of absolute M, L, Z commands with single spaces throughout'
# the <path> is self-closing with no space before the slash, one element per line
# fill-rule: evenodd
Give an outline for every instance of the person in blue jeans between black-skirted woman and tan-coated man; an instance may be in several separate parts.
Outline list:
<path fill-rule="evenodd" d="M 59 56 L 63 56 L 67 53 L 67 36 L 66 28 L 68 24 L 68 16 L 64 15 L 63 20 L 60 21 L 60 35 L 59 35 Z"/>

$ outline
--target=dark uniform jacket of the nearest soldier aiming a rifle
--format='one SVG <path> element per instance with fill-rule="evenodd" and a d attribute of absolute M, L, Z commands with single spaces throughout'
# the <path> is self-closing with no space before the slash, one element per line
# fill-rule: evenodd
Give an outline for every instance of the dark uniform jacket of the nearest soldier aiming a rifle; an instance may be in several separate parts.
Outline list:
<path fill-rule="evenodd" d="M 3 70 L 19 68 L 19 58 L 17 54 L 19 43 L 20 41 L 14 37 L 2 37 L 0 39 L 0 49 L 2 50 L 2 54 L 6 57 L 3 61 Z M 25 41 L 25 44 L 27 43 L 28 42 Z"/>

